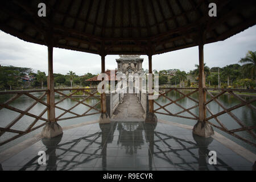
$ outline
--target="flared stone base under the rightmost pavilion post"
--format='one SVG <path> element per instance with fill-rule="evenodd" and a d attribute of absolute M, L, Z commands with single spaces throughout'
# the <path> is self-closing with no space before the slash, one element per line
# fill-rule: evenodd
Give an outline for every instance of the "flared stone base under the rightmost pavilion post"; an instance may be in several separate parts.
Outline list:
<path fill-rule="evenodd" d="M 212 126 L 205 122 L 197 121 L 196 125 L 193 127 L 193 134 L 199 135 L 201 137 L 210 137 L 214 135 Z"/>

